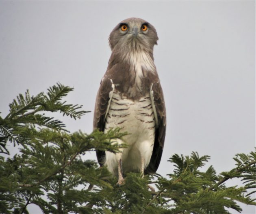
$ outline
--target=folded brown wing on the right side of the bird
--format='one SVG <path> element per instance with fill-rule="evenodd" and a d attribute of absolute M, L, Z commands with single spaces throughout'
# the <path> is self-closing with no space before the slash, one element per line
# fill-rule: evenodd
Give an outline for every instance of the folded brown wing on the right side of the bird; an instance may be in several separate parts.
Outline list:
<path fill-rule="evenodd" d="M 153 110 L 156 117 L 156 132 L 153 153 L 150 159 L 150 163 L 144 171 L 145 174 L 153 174 L 158 169 L 163 153 L 166 131 L 165 100 L 163 97 L 163 90 L 159 81 L 153 83 L 150 90 L 150 95 L 152 98 Z"/>

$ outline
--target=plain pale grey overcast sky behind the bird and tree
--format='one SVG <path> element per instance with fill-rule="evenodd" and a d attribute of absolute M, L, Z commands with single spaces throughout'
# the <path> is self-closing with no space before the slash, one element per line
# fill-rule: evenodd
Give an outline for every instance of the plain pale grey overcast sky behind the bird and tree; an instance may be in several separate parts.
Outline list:
<path fill-rule="evenodd" d="M 154 58 L 167 134 L 158 173 L 172 172 L 174 153 L 192 151 L 210 155 L 207 167 L 218 173 L 232 169 L 232 157 L 255 146 L 255 1 L 0 1 L 1 116 L 18 93 L 60 82 L 75 88 L 68 102 L 92 112 L 59 118 L 90 133 L 108 35 L 128 17 L 147 20 L 159 37 Z M 242 207 L 255 214 L 254 206 Z"/>

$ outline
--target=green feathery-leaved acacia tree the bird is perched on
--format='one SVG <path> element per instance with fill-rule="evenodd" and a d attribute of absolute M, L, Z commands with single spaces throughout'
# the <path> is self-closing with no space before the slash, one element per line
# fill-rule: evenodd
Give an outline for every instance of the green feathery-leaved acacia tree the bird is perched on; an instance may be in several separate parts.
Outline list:
<path fill-rule="evenodd" d="M 54 85 L 47 93 L 18 95 L 10 113 L 0 117 L 0 213 L 28 213 L 28 204 L 39 206 L 45 214 L 226 214 L 226 208 L 241 212 L 236 203 L 256 205 L 251 197 L 256 188 L 256 151 L 237 154 L 236 166 L 216 174 L 213 166 L 202 171 L 209 156 L 174 154 L 169 163 L 173 172 L 141 177 L 126 174 L 125 184 L 116 186 L 105 167 L 81 159 L 88 151 L 118 152 L 111 140 L 126 133 L 112 129 L 104 134 L 81 131 L 70 133 L 47 112 L 80 119 L 82 106 L 66 104 L 63 98 L 73 88 Z M 9 155 L 8 146 L 19 145 L 19 153 Z M 124 145 L 125 146 L 125 145 Z M 225 185 L 239 178 L 243 186 Z M 155 184 L 150 191 L 148 184 Z"/>

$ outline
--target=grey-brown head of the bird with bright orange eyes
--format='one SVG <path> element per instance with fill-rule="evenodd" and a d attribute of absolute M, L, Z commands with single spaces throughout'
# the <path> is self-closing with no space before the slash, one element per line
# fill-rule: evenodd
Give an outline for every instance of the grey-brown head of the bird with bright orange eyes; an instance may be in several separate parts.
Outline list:
<path fill-rule="evenodd" d="M 112 51 L 147 51 L 157 44 L 156 29 L 147 21 L 129 18 L 121 21 L 109 35 Z"/>

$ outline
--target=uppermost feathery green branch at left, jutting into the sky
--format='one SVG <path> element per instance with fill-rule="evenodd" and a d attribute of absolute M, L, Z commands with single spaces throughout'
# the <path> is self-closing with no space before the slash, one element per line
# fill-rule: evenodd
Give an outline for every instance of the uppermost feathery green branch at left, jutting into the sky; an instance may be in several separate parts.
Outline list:
<path fill-rule="evenodd" d="M 19 94 L 17 99 L 9 105 L 10 113 L 2 119 L 0 117 L 0 153 L 9 154 L 6 144 L 7 141 L 13 142 L 14 145 L 24 144 L 29 139 L 27 136 L 30 129 L 36 125 L 39 127 L 48 127 L 55 130 L 65 130 L 65 125 L 48 117 L 44 112 L 59 111 L 71 118 L 82 117 L 86 111 L 80 110 L 82 106 L 66 104 L 61 101 L 73 88 L 57 83 L 48 89 L 48 93 L 39 93 L 38 95 L 30 96 L 29 91 L 25 95 Z M 33 129 L 34 131 L 34 129 Z"/>

